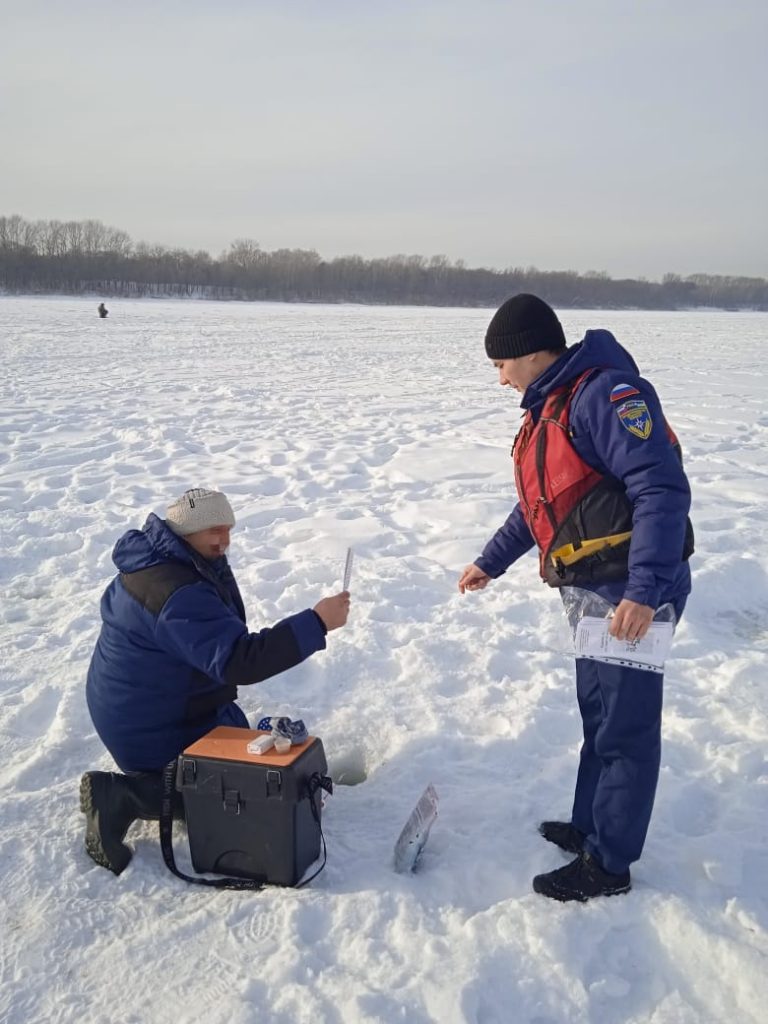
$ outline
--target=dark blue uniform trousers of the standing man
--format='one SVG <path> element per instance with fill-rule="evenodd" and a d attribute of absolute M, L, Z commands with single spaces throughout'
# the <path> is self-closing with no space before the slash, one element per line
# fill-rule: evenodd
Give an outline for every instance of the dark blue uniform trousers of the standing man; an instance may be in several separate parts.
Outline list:
<path fill-rule="evenodd" d="M 606 871 L 640 857 L 662 753 L 664 676 L 577 658 L 584 723 L 571 821 Z"/>

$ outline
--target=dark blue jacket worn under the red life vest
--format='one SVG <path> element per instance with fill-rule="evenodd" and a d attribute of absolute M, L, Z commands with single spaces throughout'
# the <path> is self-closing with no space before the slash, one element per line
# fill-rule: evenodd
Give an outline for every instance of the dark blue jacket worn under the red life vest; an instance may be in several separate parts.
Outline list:
<path fill-rule="evenodd" d="M 650 607 L 672 601 L 679 610 L 690 592 L 690 569 L 681 561 L 690 488 L 665 428 L 662 407 L 651 385 L 639 376 L 635 360 L 609 331 L 588 331 L 526 389 L 521 406 L 536 422 L 550 391 L 598 368 L 577 391 L 570 406 L 571 443 L 599 473 L 620 480 L 633 505 L 629 572 L 626 580 L 585 584 L 612 604 L 623 597 Z M 611 401 L 621 385 L 636 389 L 651 429 L 643 438 L 622 418 L 622 401 Z M 614 392 L 616 393 L 616 392 Z M 534 547 L 519 504 L 476 559 L 496 579 Z M 580 584 L 581 586 L 581 584 Z"/>

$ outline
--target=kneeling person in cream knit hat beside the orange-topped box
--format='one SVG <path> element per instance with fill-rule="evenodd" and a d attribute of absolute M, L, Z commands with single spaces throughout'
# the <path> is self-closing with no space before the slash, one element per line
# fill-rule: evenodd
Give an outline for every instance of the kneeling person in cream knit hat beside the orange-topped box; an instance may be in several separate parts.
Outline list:
<path fill-rule="evenodd" d="M 160 816 L 162 771 L 217 725 L 248 728 L 238 687 L 298 665 L 344 626 L 349 594 L 249 633 L 226 550 L 234 514 L 217 490 L 185 492 L 115 546 L 86 696 L 96 732 L 124 775 L 86 772 L 85 848 L 116 874 L 136 818 Z"/>

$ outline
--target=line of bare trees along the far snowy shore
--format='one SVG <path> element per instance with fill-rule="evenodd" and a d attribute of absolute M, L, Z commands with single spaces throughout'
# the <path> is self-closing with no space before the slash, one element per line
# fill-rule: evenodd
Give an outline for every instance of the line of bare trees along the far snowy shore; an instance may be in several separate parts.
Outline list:
<path fill-rule="evenodd" d="M 468 267 L 446 256 L 323 259 L 313 249 L 266 251 L 238 239 L 218 257 L 205 250 L 135 243 L 98 220 L 0 216 L 0 291 L 110 297 L 197 297 L 377 305 L 499 305 L 534 292 L 552 305 L 590 309 L 768 310 L 768 280 L 667 273 L 660 282 L 605 272 Z"/>

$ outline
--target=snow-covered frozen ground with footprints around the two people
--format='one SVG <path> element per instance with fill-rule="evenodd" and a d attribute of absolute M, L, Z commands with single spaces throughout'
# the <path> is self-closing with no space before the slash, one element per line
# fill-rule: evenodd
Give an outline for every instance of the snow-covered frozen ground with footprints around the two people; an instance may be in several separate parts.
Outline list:
<path fill-rule="evenodd" d="M 561 905 L 536 830 L 580 745 L 562 611 L 531 557 L 457 579 L 506 517 L 516 396 L 489 310 L 0 299 L 0 1020 L 4 1024 L 746 1024 L 768 1005 L 768 315 L 564 311 L 607 327 L 686 453 L 694 591 L 666 679 L 651 830 L 628 896 Z M 239 516 L 252 627 L 339 589 L 329 648 L 241 690 L 303 718 L 339 785 L 300 891 L 177 881 L 156 826 L 116 878 L 83 845 L 112 767 L 84 679 L 112 547 L 190 485 Z M 433 782 L 419 871 L 394 841 Z M 176 828 L 181 866 L 189 867 Z"/>

